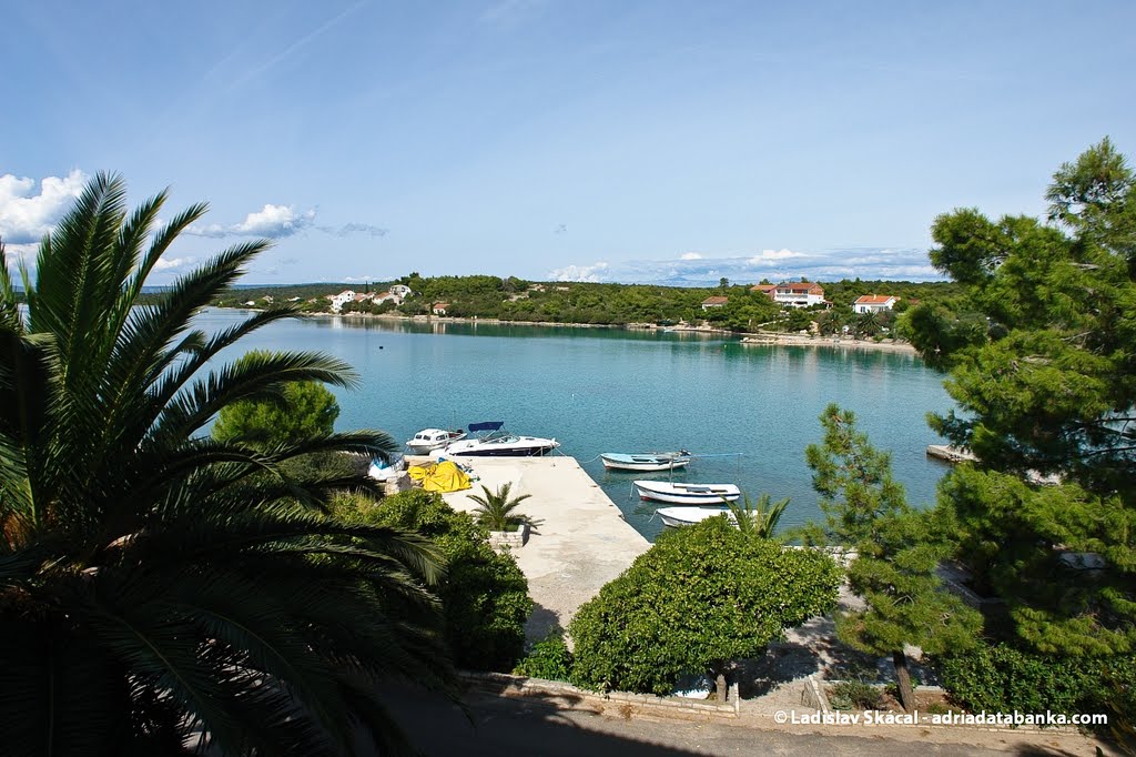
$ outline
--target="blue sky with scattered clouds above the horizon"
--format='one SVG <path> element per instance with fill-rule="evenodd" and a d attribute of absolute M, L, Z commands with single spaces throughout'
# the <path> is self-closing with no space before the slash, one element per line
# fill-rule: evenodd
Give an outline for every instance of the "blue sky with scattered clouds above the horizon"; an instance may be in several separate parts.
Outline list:
<path fill-rule="evenodd" d="M 98 172 L 210 213 L 172 282 L 932 280 L 959 207 L 1136 153 L 1136 3 L 0 0 L 0 239 Z"/>

